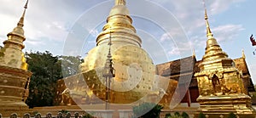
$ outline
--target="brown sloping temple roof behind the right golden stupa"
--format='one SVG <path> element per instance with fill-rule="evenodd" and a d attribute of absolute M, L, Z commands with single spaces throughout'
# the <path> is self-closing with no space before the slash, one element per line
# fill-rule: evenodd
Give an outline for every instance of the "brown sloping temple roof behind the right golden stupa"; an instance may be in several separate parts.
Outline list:
<path fill-rule="evenodd" d="M 253 87 L 253 81 L 250 77 L 249 70 L 247 68 L 247 63 L 244 58 L 233 59 L 236 64 L 236 68 L 241 70 L 243 73 L 244 83 L 247 84 L 247 89 L 249 92 L 255 92 Z M 188 81 L 191 79 L 189 87 L 197 87 L 197 80 L 194 76 L 196 72 L 200 71 L 198 65 L 200 65 L 202 60 L 196 60 L 195 56 L 190 56 L 183 59 L 177 59 L 164 64 L 156 65 L 156 74 L 160 76 L 170 77 L 172 80 L 176 81 Z M 181 69 L 181 63 L 183 63 L 183 70 Z M 193 67 L 193 69 L 192 69 Z M 193 72 L 192 72 L 193 71 Z M 248 77 L 248 78 L 247 78 Z"/>

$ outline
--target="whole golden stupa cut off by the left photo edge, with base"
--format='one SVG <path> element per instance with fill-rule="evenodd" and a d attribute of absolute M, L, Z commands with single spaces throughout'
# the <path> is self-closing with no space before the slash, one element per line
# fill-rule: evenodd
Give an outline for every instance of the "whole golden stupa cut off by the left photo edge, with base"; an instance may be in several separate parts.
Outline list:
<path fill-rule="evenodd" d="M 28 2 L 28 1 L 27 1 Z M 32 72 L 27 70 L 26 59 L 22 49 L 25 48 L 24 12 L 15 27 L 4 41 L 4 47 L 0 51 L 0 110 L 25 110 L 28 109 L 25 100 L 28 96 L 28 86 Z"/>

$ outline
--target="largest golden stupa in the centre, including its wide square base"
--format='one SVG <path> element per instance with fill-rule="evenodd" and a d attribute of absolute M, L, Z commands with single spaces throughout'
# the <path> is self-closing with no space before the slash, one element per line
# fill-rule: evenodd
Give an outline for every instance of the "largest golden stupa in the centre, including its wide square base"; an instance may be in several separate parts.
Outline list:
<path fill-rule="evenodd" d="M 109 60 L 114 76 L 110 76 L 109 99 L 106 99 L 108 82 L 103 72 Z M 164 97 L 162 101 L 168 106 L 177 87 L 177 81 L 155 76 L 155 65 L 142 48 L 125 0 L 115 0 L 107 24 L 96 38 L 96 48 L 90 50 L 80 69 L 80 74 L 58 81 L 60 96 L 55 98 L 56 103 L 102 104 L 108 100 L 110 104 L 133 104 L 159 96 L 158 102 Z M 159 95 L 163 90 L 166 94 Z M 63 93 L 68 93 L 68 97 L 63 97 Z"/>

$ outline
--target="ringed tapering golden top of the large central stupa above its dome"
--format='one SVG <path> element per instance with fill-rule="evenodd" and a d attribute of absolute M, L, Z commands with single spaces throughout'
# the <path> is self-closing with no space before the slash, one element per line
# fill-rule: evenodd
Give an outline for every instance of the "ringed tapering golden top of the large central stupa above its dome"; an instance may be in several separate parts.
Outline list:
<path fill-rule="evenodd" d="M 111 29 L 111 30 L 110 30 Z M 125 0 L 115 0 L 115 5 L 108 15 L 107 24 L 96 38 L 96 46 L 108 44 L 108 35 L 111 31 L 113 44 L 115 42 L 129 43 L 138 47 L 142 46 L 142 40 L 137 36 L 137 31 L 132 25 L 132 19 Z"/>

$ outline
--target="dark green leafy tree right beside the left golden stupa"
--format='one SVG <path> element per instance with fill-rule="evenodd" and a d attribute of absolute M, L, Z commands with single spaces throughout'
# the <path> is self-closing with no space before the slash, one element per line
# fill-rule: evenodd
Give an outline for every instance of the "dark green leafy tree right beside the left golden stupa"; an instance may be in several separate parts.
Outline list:
<path fill-rule="evenodd" d="M 26 104 L 30 108 L 51 106 L 55 97 L 56 81 L 61 79 L 61 63 L 57 56 L 48 51 L 26 53 L 28 70 L 32 71 L 29 97 Z"/>

